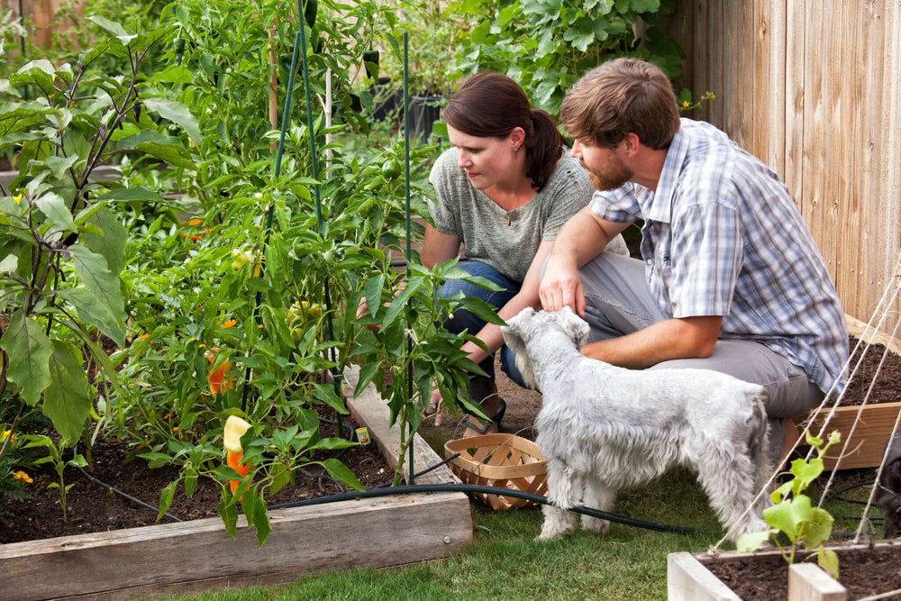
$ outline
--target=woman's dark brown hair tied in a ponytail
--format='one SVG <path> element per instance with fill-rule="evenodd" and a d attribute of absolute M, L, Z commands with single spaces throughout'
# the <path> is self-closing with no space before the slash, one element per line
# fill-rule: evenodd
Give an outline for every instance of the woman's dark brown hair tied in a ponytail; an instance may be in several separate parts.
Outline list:
<path fill-rule="evenodd" d="M 523 88 L 500 73 L 479 73 L 451 96 L 441 112 L 444 123 L 479 138 L 505 138 L 514 128 L 525 132 L 525 176 L 542 189 L 551 178 L 563 138 L 546 111 L 532 109 Z"/>

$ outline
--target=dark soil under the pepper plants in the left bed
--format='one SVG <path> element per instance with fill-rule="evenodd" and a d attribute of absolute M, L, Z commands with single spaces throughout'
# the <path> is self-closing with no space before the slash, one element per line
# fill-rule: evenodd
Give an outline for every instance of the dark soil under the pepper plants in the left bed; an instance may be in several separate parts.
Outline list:
<path fill-rule="evenodd" d="M 344 424 L 356 427 L 348 419 L 345 419 Z M 322 435 L 331 434 L 323 432 Z M 93 448 L 94 469 L 86 470 L 87 473 L 134 499 L 159 506 L 159 494 L 177 477 L 177 469 L 150 469 L 140 458 L 126 462 L 127 451 L 127 446 L 122 442 L 97 442 Z M 329 455 L 316 456 L 315 459 L 321 460 L 329 456 L 337 456 L 348 466 L 363 487 L 378 486 L 390 481 L 393 475 L 374 442 L 366 446 L 351 447 L 340 454 L 332 451 Z M 268 497 L 267 505 L 271 507 L 341 492 L 332 480 L 316 478 L 322 471 L 318 466 L 311 466 L 308 476 L 297 474 L 296 484 Z M 108 487 L 92 482 L 77 469 L 65 471 L 67 486 L 74 486 L 68 491 L 68 520 L 63 522 L 58 489 L 48 488 L 51 482 L 56 481 L 56 472 L 48 468 L 32 474 L 32 478 L 34 481 L 26 487 L 26 491 L 33 498 L 7 501 L 0 511 L 0 518 L 5 520 L 5 524 L 0 524 L 0 543 L 174 522 L 167 516 L 157 522 L 157 510 L 141 506 L 114 493 Z M 194 494 L 188 497 L 184 487 L 179 485 L 168 514 L 183 521 L 215 516 L 221 490 L 214 481 L 201 478 Z"/>

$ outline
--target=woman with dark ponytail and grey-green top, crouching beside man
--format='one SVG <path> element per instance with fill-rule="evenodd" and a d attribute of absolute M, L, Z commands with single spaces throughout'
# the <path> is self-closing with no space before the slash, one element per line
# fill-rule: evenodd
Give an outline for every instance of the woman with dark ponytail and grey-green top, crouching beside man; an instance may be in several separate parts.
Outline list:
<path fill-rule="evenodd" d="M 430 203 L 434 227 L 425 229 L 423 265 L 432 269 L 451 259 L 462 242 L 468 261 L 460 268 L 504 291 L 451 280 L 440 288 L 441 296 L 460 290 L 478 296 L 504 320 L 527 306 L 541 308 L 542 264 L 560 226 L 591 198 L 587 173 L 569 156 L 551 115 L 530 109 L 523 89 L 505 75 L 471 77 L 451 96 L 442 119 L 453 148 L 441 154 L 429 178 L 436 199 Z M 626 253 L 622 237 L 607 248 Z M 463 347 L 488 374 L 471 378 L 469 397 L 494 416 L 493 423 L 470 419 L 465 435 L 496 432 L 505 411 L 494 378 L 493 353 L 504 345 L 500 328 L 466 311 L 454 312 L 445 325 L 451 332 L 477 332 L 492 353 L 471 342 Z M 522 385 L 512 358 L 512 351 L 505 351 L 502 367 Z M 435 391 L 432 413 L 440 401 Z"/>

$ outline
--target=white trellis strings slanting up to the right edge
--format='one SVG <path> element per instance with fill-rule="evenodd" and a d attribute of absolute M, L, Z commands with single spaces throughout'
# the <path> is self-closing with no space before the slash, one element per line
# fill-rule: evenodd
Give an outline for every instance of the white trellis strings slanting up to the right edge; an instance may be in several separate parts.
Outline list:
<path fill-rule="evenodd" d="M 879 298 L 879 302 L 876 305 L 876 310 L 873 311 L 873 313 L 871 314 L 871 316 L 869 318 L 869 323 L 867 323 L 866 327 L 864 327 L 863 332 L 860 334 L 860 338 L 858 339 L 857 345 L 854 347 L 854 351 L 851 353 L 851 355 L 849 356 L 849 359 L 845 362 L 844 366 L 842 367 L 842 373 L 847 373 L 848 369 L 851 367 L 851 357 L 853 356 L 854 353 L 856 353 L 860 349 L 860 344 L 863 342 L 863 339 L 871 338 L 871 336 L 869 336 L 870 328 L 872 328 L 872 333 L 880 331 L 880 328 L 882 327 L 882 324 L 885 322 L 887 314 L 889 313 L 888 308 L 891 307 L 892 304 L 895 302 L 895 300 L 898 296 L 898 291 L 901 290 L 901 286 L 898 285 L 898 281 L 897 281 L 897 278 L 899 278 L 899 276 L 901 276 L 901 253 L 898 254 L 898 259 L 896 261 L 896 275 L 894 276 L 894 278 L 896 278 L 896 285 L 894 287 L 887 286 L 885 292 L 882 293 L 882 296 Z M 894 288 L 894 293 L 892 293 L 893 288 Z M 883 308 L 883 305 L 885 305 L 884 308 Z M 876 320 L 877 315 L 880 315 L 878 324 L 873 326 L 873 321 Z M 901 323 L 901 320 L 898 320 L 898 323 Z M 897 328 L 898 328 L 898 323 L 896 323 L 896 326 L 895 326 L 896 332 L 897 332 Z M 867 342 L 866 346 L 864 347 L 864 351 L 860 354 L 860 359 L 854 365 L 854 369 L 851 373 L 851 376 L 849 376 L 849 378 L 848 378 L 849 381 L 851 380 L 851 378 L 854 378 L 857 375 L 857 372 L 860 369 L 860 365 L 863 362 L 864 354 L 866 354 L 867 349 L 869 349 L 869 345 L 870 345 L 870 343 Z M 884 356 L 883 356 L 883 360 L 885 360 Z M 882 363 L 880 362 L 879 369 L 881 369 L 881 367 L 882 367 Z M 877 370 L 877 375 L 878 375 L 878 370 Z M 835 390 L 839 386 L 840 379 L 841 378 L 835 378 L 833 385 L 831 387 L 829 387 L 829 390 L 824 395 L 823 402 L 820 403 L 820 405 L 818 407 L 816 407 L 815 413 L 812 415 L 812 417 L 805 421 L 805 426 L 801 431 L 802 435 L 798 436 L 797 440 L 795 441 L 795 444 L 793 444 L 791 449 L 788 451 L 788 453 L 786 455 L 787 457 L 790 456 L 791 453 L 797 449 L 797 447 L 801 444 L 801 441 L 805 440 L 805 436 L 803 434 L 810 430 L 810 426 L 813 423 L 813 417 L 815 417 L 818 414 L 821 414 L 823 412 L 826 404 L 830 402 L 830 398 L 833 396 L 833 392 L 835 392 Z M 874 380 L 875 379 L 876 378 L 874 378 Z M 870 385 L 870 390 L 871 389 L 872 389 L 872 385 Z M 818 436 L 823 436 L 823 433 L 824 433 L 829 421 L 832 419 L 833 414 L 835 413 L 836 407 L 838 407 L 838 405 L 841 404 L 843 396 L 844 396 L 844 390 L 842 389 L 839 396 L 837 396 L 835 398 L 835 400 L 833 401 L 832 409 L 830 410 L 829 414 L 826 415 L 823 426 L 821 427 L 820 433 L 818 434 Z M 867 398 L 869 398 L 869 391 L 867 393 Z M 866 401 L 866 399 L 865 399 L 865 401 Z M 862 411 L 862 405 L 861 405 L 861 411 Z M 859 420 L 860 420 L 860 412 L 858 412 L 857 420 L 855 420 L 855 422 L 854 422 L 855 427 Z M 896 429 L 897 429 L 897 423 L 896 423 Z M 851 432 L 853 432 L 853 427 L 851 428 Z M 849 440 L 850 440 L 850 438 L 851 438 L 851 436 L 848 437 Z M 847 445 L 847 441 L 845 442 L 845 444 Z M 813 453 L 813 450 L 808 452 L 807 458 L 806 458 L 807 460 L 809 460 L 811 458 L 812 453 Z M 844 450 L 842 450 L 842 455 L 843 455 L 843 453 L 844 453 Z M 839 458 L 839 460 L 836 461 L 836 468 L 838 467 L 839 461 L 841 461 L 841 457 Z M 885 462 L 885 458 L 883 458 L 883 462 Z M 833 469 L 833 476 L 836 471 L 837 471 L 837 469 Z M 744 517 L 746 514 L 748 514 L 748 512 L 750 512 L 751 509 L 755 505 L 757 505 L 757 503 L 760 501 L 760 497 L 764 496 L 764 495 L 769 495 L 769 487 L 772 485 L 773 481 L 778 476 L 778 473 L 779 473 L 778 466 L 776 466 L 776 469 L 773 470 L 773 473 L 769 476 L 769 479 L 766 481 L 766 483 L 763 485 L 763 487 L 757 493 L 757 496 L 755 496 L 754 499 L 751 501 L 751 504 L 749 506 L 745 507 L 744 513 L 740 516 L 739 520 L 736 521 L 735 524 L 730 526 L 730 528 L 726 531 L 726 533 L 724 533 L 723 538 L 721 538 L 719 541 L 717 541 L 713 547 L 708 549 L 707 552 L 715 554 L 715 552 L 719 550 L 719 548 L 723 545 L 723 543 L 729 539 L 730 535 L 733 533 L 733 530 L 741 522 L 741 518 Z M 827 487 L 824 490 L 823 497 L 821 497 L 821 504 L 822 504 L 822 498 L 825 497 L 825 493 L 829 490 L 829 486 L 831 484 L 832 484 L 832 477 L 830 478 L 829 482 L 827 483 Z M 875 489 L 875 487 L 874 487 L 874 489 Z M 861 522 L 861 524 L 862 524 L 862 522 Z"/>

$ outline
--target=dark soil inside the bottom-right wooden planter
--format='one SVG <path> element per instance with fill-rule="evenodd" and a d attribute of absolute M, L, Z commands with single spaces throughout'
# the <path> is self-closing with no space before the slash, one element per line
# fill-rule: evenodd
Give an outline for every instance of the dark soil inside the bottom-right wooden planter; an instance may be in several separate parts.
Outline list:
<path fill-rule="evenodd" d="M 901 544 L 878 549 L 837 551 L 839 582 L 849 599 L 901 589 Z M 788 564 L 780 555 L 705 563 L 744 601 L 773 601 L 788 596 Z M 901 599 L 901 593 L 884 597 Z"/>

